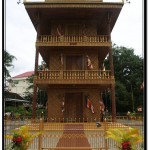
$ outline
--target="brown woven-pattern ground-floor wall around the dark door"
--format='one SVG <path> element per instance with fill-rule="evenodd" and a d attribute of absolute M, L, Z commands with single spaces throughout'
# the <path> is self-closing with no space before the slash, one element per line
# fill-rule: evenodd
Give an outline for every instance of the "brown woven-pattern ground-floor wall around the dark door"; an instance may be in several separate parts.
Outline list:
<path fill-rule="evenodd" d="M 88 119 L 99 119 L 99 99 L 100 91 L 98 89 L 49 89 L 48 91 L 48 120 L 51 118 L 62 118 L 64 114 L 62 112 L 62 101 L 65 92 L 82 92 L 83 101 L 85 97 L 89 95 L 89 99 L 94 106 L 95 113 L 93 114 L 89 108 L 86 107 L 86 103 L 83 106 L 83 116 Z"/>

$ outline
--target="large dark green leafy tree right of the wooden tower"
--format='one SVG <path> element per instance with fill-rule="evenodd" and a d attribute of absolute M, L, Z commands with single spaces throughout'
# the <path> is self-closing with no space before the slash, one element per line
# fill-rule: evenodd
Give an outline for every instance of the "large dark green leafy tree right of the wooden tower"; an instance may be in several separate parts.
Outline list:
<path fill-rule="evenodd" d="M 109 68 L 109 57 L 104 63 L 106 68 Z M 126 111 L 126 108 L 132 111 L 132 95 L 135 108 L 143 105 L 143 93 L 140 90 L 144 74 L 143 64 L 143 58 L 135 55 L 134 49 L 124 46 L 118 47 L 116 44 L 113 45 L 117 111 Z"/>

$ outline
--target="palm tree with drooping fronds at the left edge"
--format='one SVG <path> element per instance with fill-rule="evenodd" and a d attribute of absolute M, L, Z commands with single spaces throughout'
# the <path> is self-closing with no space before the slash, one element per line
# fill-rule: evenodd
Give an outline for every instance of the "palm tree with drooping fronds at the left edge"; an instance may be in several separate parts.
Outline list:
<path fill-rule="evenodd" d="M 14 67 L 14 65 L 12 64 L 14 59 L 16 59 L 15 56 L 9 54 L 6 50 L 4 50 L 4 79 L 5 80 L 6 78 L 11 77 L 8 68 Z"/>

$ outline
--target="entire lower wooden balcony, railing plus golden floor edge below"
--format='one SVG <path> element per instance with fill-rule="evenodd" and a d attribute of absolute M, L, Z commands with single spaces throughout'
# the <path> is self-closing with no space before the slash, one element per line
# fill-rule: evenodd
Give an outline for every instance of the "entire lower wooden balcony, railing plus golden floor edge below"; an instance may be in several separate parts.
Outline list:
<path fill-rule="evenodd" d="M 35 84 L 110 84 L 114 82 L 111 71 L 99 70 L 55 70 L 38 71 Z"/>

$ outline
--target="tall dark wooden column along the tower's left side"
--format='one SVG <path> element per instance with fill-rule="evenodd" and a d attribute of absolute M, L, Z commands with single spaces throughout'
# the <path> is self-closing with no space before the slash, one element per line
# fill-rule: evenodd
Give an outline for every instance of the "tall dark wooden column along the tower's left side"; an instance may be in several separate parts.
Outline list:
<path fill-rule="evenodd" d="M 40 20 L 39 15 L 37 16 L 37 40 L 39 39 L 40 35 Z M 38 71 L 38 60 L 39 60 L 39 47 L 36 46 L 36 52 L 35 52 L 35 68 L 34 68 L 34 76 L 37 76 Z M 36 104 L 37 104 L 37 84 L 33 83 L 34 89 L 33 89 L 33 112 L 32 112 L 32 119 L 35 120 L 36 117 Z"/>

